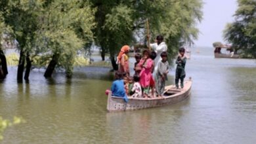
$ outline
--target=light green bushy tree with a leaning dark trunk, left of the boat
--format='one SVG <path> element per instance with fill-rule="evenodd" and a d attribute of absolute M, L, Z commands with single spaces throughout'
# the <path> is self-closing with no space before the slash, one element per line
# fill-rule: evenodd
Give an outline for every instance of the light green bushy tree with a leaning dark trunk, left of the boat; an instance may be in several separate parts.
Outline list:
<path fill-rule="evenodd" d="M 72 76 L 77 50 L 93 41 L 93 12 L 88 1 L 56 0 L 45 6 L 43 30 L 38 33 L 43 51 L 52 55 L 45 77 L 51 77 L 56 66 L 66 69 L 67 77 Z"/>

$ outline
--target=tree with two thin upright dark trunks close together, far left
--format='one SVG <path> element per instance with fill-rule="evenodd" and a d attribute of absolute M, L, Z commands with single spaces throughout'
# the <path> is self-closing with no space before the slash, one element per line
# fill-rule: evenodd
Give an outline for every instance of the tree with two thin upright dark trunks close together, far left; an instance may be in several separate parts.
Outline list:
<path fill-rule="evenodd" d="M 20 60 L 18 63 L 18 81 L 22 81 L 24 66 L 26 63 L 26 73 L 24 79 L 28 79 L 31 69 L 30 54 L 33 50 L 35 31 L 39 29 L 37 21 L 41 2 L 39 1 L 11 1 L 5 0 L 0 3 L 1 18 L 3 22 L 11 27 L 11 35 L 18 41 L 20 50 Z"/>

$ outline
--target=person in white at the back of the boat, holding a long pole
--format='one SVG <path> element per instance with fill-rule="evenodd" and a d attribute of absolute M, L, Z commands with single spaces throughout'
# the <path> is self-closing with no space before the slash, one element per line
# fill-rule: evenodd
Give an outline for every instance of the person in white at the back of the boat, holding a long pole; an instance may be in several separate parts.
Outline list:
<path fill-rule="evenodd" d="M 156 43 L 150 44 L 150 47 L 156 52 L 156 59 L 154 60 L 156 67 L 154 68 L 154 78 L 156 79 L 156 72 L 158 69 L 158 63 L 161 62 L 161 53 L 167 52 L 167 45 L 163 42 L 163 36 L 158 35 L 156 37 Z"/>

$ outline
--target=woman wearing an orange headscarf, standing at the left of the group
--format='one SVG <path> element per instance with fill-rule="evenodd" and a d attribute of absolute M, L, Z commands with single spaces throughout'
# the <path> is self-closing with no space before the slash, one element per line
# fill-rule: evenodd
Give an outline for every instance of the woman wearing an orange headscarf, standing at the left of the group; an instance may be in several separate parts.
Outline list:
<path fill-rule="evenodd" d="M 119 65 L 118 71 L 121 73 L 130 73 L 129 57 L 128 57 L 129 50 L 130 50 L 130 47 L 127 45 L 124 45 L 118 54 L 118 57 L 117 57 L 117 63 Z"/>

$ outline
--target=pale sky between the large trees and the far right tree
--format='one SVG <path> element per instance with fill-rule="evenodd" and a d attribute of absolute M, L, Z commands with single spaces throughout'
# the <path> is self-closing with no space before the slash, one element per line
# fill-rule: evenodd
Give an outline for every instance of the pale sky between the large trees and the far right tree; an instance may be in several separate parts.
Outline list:
<path fill-rule="evenodd" d="M 212 46 L 216 41 L 226 43 L 223 30 L 228 22 L 234 22 L 236 0 L 203 0 L 203 20 L 198 24 L 200 35 L 196 46 Z"/>

